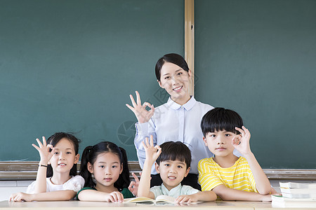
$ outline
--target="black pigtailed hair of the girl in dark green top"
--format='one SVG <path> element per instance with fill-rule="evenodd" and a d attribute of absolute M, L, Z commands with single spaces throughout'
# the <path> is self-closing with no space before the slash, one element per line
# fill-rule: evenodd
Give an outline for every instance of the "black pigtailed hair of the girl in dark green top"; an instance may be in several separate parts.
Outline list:
<path fill-rule="evenodd" d="M 126 151 L 110 141 L 102 141 L 95 146 L 87 146 L 84 149 L 80 166 L 80 175 L 85 180 L 84 187 L 94 188 L 96 186 L 92 179 L 92 174 L 88 171 L 88 162 L 93 165 L 101 153 L 113 153 L 119 156 L 120 165 L 123 164 L 123 171 L 119 174 L 119 179 L 114 183 L 114 187 L 119 191 L 129 187 L 131 180 L 129 179 L 129 164 Z"/>

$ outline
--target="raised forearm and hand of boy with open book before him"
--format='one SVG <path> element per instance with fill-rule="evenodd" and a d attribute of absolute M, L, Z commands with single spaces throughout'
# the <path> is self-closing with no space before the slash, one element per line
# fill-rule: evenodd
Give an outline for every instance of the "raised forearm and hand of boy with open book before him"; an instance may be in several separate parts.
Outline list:
<path fill-rule="evenodd" d="M 150 142 L 148 142 L 148 138 L 145 139 L 143 147 L 145 148 L 146 160 L 138 185 L 138 197 L 150 197 L 154 199 L 154 193 L 150 192 L 150 172 L 152 165 L 157 160 L 160 153 L 162 153 L 162 148 L 160 148 L 160 146 L 154 146 L 152 136 L 150 136 Z"/>

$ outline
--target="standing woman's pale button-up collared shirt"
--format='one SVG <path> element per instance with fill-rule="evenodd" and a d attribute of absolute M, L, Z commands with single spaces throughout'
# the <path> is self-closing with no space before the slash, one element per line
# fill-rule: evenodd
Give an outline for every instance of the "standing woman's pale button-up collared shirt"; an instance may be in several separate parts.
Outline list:
<path fill-rule="evenodd" d="M 194 97 L 182 106 L 173 102 L 169 97 L 168 102 L 154 109 L 154 116 L 148 123 L 136 123 L 136 146 L 140 167 L 145 162 L 145 150 L 142 141 L 145 137 L 154 137 L 154 145 L 161 145 L 166 141 L 181 141 L 192 154 L 190 173 L 198 174 L 197 164 L 199 160 L 213 157 L 203 141 L 201 120 L 206 112 L 213 109 L 213 106 L 197 102 Z M 152 174 L 157 174 L 152 167 Z"/>

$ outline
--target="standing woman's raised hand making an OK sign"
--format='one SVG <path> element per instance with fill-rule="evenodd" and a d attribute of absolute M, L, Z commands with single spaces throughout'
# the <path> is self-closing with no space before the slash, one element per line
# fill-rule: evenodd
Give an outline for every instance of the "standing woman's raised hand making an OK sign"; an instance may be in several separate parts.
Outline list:
<path fill-rule="evenodd" d="M 138 91 L 136 91 L 136 101 L 135 102 L 133 96 L 130 94 L 129 97 L 131 98 L 131 102 L 133 104 L 133 106 L 130 106 L 129 104 L 126 104 L 127 107 L 129 107 L 129 109 L 131 109 L 131 111 L 133 111 L 133 113 L 135 114 L 138 123 L 147 123 L 150 118 L 152 118 L 152 116 L 154 115 L 154 105 L 145 102 L 143 105 L 140 102 L 140 96 Z M 150 108 L 150 111 L 146 110 L 146 106 L 148 106 Z"/>

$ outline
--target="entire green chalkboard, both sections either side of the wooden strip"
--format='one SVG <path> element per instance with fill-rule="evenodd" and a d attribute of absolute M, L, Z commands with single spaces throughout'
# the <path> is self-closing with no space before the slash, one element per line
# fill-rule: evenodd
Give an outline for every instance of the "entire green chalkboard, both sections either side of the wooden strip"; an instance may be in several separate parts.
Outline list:
<path fill-rule="evenodd" d="M 154 64 L 184 55 L 183 0 L 2 0 L 0 31 L 0 160 L 60 131 L 137 160 L 125 104 L 166 102 Z M 195 97 L 240 113 L 263 168 L 316 168 L 315 37 L 313 0 L 195 0 Z"/>

